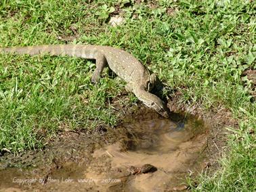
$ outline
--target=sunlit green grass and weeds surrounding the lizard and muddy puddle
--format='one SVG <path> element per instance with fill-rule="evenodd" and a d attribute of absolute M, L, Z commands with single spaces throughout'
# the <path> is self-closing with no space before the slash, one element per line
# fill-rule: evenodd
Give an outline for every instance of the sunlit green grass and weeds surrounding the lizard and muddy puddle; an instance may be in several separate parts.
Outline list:
<path fill-rule="evenodd" d="M 226 107 L 239 122 L 230 128 L 221 168 L 197 178 L 200 185 L 192 190 L 255 191 L 256 104 L 251 82 L 241 78 L 256 69 L 255 1 L 86 2 L 1 1 L 0 47 L 86 43 L 129 51 L 181 91 L 181 102 Z M 114 28 L 108 19 L 116 7 L 126 22 Z M 0 147 L 33 149 L 64 129 L 114 125 L 110 99 L 123 82 L 106 76 L 95 87 L 93 68 L 78 58 L 1 55 Z"/>

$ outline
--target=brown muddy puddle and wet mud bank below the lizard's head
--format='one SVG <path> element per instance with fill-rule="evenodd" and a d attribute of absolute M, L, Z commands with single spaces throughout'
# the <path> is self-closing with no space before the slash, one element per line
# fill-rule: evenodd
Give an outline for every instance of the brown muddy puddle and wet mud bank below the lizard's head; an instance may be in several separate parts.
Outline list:
<path fill-rule="evenodd" d="M 175 191 L 206 166 L 211 128 L 144 107 L 116 128 L 66 132 L 46 149 L 3 155 L 0 191 Z"/>

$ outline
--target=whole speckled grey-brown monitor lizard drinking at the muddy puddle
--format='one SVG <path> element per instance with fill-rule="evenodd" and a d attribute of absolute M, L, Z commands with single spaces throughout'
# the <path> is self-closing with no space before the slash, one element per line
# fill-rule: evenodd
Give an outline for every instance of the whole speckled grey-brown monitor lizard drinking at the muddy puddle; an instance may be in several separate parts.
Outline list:
<path fill-rule="evenodd" d="M 85 59 L 95 59 L 96 68 L 91 81 L 97 83 L 105 66 L 120 76 L 127 85 L 125 89 L 131 91 L 146 106 L 156 110 L 158 114 L 169 117 L 169 110 L 165 103 L 151 91 L 156 81 L 156 75 L 150 74 L 138 59 L 127 51 L 101 45 L 37 45 L 28 47 L 0 48 L 0 53 L 17 53 L 37 55 L 70 55 Z"/>

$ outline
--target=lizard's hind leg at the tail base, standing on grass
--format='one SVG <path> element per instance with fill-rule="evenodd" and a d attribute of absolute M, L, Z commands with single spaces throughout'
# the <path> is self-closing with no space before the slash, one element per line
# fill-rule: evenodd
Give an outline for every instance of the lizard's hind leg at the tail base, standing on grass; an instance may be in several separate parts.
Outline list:
<path fill-rule="evenodd" d="M 96 59 L 96 68 L 93 72 L 93 76 L 91 77 L 91 82 L 96 84 L 97 82 L 100 81 L 100 75 L 102 74 L 102 71 L 107 64 L 107 61 L 105 56 L 102 54 L 97 55 L 95 59 Z"/>

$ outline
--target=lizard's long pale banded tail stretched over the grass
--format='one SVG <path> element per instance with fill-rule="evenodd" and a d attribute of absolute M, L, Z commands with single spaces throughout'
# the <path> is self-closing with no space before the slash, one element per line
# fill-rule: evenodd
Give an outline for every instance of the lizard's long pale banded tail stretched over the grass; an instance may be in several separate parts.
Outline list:
<path fill-rule="evenodd" d="M 85 49 L 85 47 L 87 49 Z M 11 47 L 0 48 L 0 53 L 16 53 L 16 54 L 29 54 L 38 55 L 41 53 L 49 55 L 70 55 L 76 57 L 91 58 L 93 55 L 88 54 L 90 45 L 38 45 L 28 47 Z"/>

